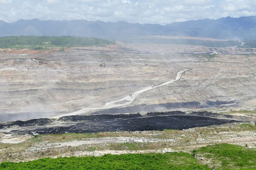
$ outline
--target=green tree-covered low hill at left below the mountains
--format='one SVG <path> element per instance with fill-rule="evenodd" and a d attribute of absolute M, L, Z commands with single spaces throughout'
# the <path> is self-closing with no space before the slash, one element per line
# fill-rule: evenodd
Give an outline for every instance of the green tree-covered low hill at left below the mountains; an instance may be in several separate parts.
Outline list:
<path fill-rule="evenodd" d="M 105 46 L 114 44 L 108 40 L 99 38 L 86 37 L 34 37 L 34 36 L 20 36 L 20 37 L 0 37 L 0 48 L 27 48 L 30 50 L 42 50 L 52 47 L 58 47 L 63 50 L 67 47 L 86 47 L 86 46 Z"/>

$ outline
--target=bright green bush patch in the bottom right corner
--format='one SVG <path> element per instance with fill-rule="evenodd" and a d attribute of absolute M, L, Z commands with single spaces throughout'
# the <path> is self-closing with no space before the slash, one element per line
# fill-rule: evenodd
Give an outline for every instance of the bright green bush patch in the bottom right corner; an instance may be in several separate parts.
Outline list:
<path fill-rule="evenodd" d="M 224 170 L 255 170 L 256 150 L 232 144 L 215 144 L 193 150 L 192 155 L 202 157 L 210 167 Z"/>

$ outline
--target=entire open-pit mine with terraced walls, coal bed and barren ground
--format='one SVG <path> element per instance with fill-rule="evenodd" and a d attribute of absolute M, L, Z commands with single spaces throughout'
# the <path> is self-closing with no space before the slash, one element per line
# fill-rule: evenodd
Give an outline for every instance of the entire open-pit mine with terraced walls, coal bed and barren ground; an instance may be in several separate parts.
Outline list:
<path fill-rule="evenodd" d="M 255 48 L 0 49 L 0 162 L 223 142 L 255 148 L 255 96 Z"/>

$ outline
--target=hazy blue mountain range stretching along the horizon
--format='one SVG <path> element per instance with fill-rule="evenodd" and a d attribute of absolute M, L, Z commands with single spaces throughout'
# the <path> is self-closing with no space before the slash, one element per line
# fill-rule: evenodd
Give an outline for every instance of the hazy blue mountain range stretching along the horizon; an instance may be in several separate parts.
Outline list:
<path fill-rule="evenodd" d="M 0 36 L 48 35 L 96 37 L 107 40 L 129 40 L 141 36 L 189 36 L 216 39 L 256 40 L 256 17 L 191 20 L 165 26 L 158 24 L 111 23 L 87 20 L 18 20 L 0 21 Z"/>

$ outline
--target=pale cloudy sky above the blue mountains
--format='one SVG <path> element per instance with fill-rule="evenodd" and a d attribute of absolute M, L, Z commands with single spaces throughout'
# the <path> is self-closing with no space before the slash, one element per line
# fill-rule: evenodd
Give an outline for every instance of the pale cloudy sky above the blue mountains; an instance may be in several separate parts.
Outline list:
<path fill-rule="evenodd" d="M 168 24 L 256 15 L 256 0 L 0 0 L 0 20 L 102 20 Z"/>

